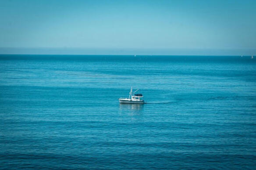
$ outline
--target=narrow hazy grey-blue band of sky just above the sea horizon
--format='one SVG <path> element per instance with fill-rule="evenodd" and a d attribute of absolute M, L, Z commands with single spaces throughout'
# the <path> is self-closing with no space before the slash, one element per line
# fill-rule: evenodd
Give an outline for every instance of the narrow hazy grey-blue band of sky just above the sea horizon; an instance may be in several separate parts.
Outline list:
<path fill-rule="evenodd" d="M 254 49 L 96 49 L 96 48 L 0 48 L 0 54 L 40 55 L 178 55 L 178 56 L 251 56 Z"/>

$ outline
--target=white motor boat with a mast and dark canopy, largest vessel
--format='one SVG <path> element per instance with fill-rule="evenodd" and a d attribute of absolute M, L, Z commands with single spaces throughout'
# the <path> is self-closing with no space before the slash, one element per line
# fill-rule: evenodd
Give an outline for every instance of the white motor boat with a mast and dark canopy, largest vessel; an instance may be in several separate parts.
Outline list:
<path fill-rule="evenodd" d="M 135 92 L 137 92 L 139 89 L 137 89 Z M 135 92 L 131 91 L 129 93 L 129 98 L 119 98 L 119 103 L 130 103 L 130 104 L 144 104 L 144 100 L 142 99 L 142 94 L 135 94 Z"/>

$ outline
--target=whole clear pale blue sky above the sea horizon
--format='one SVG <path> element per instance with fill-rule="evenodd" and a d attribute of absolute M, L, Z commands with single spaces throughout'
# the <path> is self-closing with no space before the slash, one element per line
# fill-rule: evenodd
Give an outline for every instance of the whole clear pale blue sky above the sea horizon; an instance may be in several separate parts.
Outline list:
<path fill-rule="evenodd" d="M 256 0 L 0 0 L 0 53 L 256 55 Z"/>

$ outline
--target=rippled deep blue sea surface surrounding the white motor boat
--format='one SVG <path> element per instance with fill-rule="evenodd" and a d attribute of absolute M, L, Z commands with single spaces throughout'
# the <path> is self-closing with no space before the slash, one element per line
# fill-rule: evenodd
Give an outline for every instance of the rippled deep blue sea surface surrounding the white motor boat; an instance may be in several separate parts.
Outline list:
<path fill-rule="evenodd" d="M 255 169 L 256 60 L 0 55 L 0 168 Z"/>

